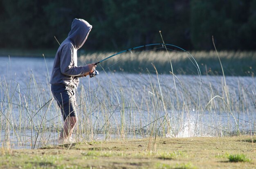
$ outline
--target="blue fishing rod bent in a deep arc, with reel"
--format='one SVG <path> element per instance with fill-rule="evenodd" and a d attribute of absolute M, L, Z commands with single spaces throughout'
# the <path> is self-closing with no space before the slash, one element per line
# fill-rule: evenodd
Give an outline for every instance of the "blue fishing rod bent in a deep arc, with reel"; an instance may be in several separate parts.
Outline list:
<path fill-rule="evenodd" d="M 121 53 L 124 53 L 124 52 L 127 52 L 127 51 L 130 51 L 130 52 L 131 52 L 131 51 L 134 50 L 134 49 L 143 48 L 143 47 L 147 47 L 147 46 L 153 46 L 153 45 L 162 45 L 162 48 L 166 48 L 166 46 L 172 46 L 172 47 L 175 47 L 175 48 L 178 48 L 178 49 L 184 51 L 186 54 L 189 55 L 189 57 L 193 58 L 193 61 L 194 61 L 194 62 L 191 60 L 191 58 L 189 58 L 189 59 L 190 59 L 190 61 L 193 63 L 193 65 L 197 68 L 198 75 L 199 75 L 199 77 L 200 77 L 200 80 L 202 81 L 201 71 L 200 71 L 200 68 L 199 68 L 199 66 L 198 66 L 198 63 L 195 61 L 195 58 L 194 58 L 190 53 L 188 53 L 186 50 L 184 50 L 183 48 L 181 48 L 181 47 L 179 47 L 179 46 L 172 45 L 172 44 L 157 43 L 157 44 L 146 44 L 146 45 L 143 45 L 143 46 L 137 46 L 137 47 L 134 47 L 134 48 L 126 49 L 126 50 L 123 50 L 123 51 L 121 51 L 121 52 L 115 53 L 114 55 L 111 55 L 111 56 L 109 56 L 109 57 L 106 57 L 105 59 L 102 59 L 102 60 L 96 62 L 94 65 L 97 65 L 97 64 L 99 64 L 99 63 L 101 63 L 101 62 L 103 62 L 103 61 L 105 61 L 105 60 L 107 60 L 107 59 L 109 59 L 109 58 L 111 58 L 111 57 L 114 57 L 114 56 L 116 56 L 116 55 L 119 55 L 119 54 L 121 54 Z M 166 48 L 166 50 L 167 50 L 167 49 L 169 49 L 169 48 Z M 169 50 L 173 50 L 173 49 L 169 49 Z M 173 51 L 176 51 L 176 50 L 173 50 Z M 176 52 L 177 52 L 177 51 L 176 51 Z M 94 71 L 94 72 L 95 72 L 97 75 L 98 75 L 98 73 L 99 73 L 99 72 L 96 72 L 96 71 Z M 92 75 L 92 76 L 94 77 L 95 75 Z"/>

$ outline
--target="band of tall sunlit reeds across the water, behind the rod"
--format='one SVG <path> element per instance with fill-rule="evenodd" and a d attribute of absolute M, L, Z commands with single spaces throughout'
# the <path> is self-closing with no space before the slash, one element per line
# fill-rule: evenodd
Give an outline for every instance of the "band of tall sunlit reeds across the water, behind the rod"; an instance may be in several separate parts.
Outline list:
<path fill-rule="evenodd" d="M 222 75 L 222 70 L 215 51 L 191 51 L 195 57 L 203 75 Z M 82 54 L 79 60 L 81 63 L 100 61 L 114 53 L 88 53 Z M 169 52 L 173 71 L 175 74 L 196 75 L 191 61 L 183 53 Z M 256 69 L 256 52 L 254 51 L 220 51 L 220 59 L 225 70 L 225 75 L 254 76 Z M 146 68 L 154 71 L 153 63 L 159 73 L 171 71 L 170 60 L 165 49 L 161 51 L 149 51 L 133 53 L 126 52 L 112 57 L 101 63 L 105 70 L 124 72 L 146 72 Z"/>

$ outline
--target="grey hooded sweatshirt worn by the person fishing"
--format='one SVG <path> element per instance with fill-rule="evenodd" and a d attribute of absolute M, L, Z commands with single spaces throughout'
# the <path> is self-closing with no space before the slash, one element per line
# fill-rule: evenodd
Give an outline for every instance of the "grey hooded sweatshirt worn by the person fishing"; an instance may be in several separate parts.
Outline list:
<path fill-rule="evenodd" d="M 86 41 L 92 25 L 82 19 L 74 19 L 68 37 L 61 43 L 55 55 L 50 84 L 64 84 L 77 88 L 79 77 L 89 72 L 88 66 L 77 66 L 77 49 Z"/>

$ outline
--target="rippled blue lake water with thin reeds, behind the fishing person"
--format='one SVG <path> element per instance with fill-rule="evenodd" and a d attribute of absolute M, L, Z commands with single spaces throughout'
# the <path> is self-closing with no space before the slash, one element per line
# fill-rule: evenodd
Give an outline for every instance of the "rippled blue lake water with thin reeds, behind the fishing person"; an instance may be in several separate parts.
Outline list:
<path fill-rule="evenodd" d="M 0 57 L 0 139 L 56 144 L 62 117 L 49 90 L 54 59 Z M 175 65 L 174 65 L 175 68 Z M 76 93 L 76 140 L 255 134 L 256 79 L 100 72 Z"/>

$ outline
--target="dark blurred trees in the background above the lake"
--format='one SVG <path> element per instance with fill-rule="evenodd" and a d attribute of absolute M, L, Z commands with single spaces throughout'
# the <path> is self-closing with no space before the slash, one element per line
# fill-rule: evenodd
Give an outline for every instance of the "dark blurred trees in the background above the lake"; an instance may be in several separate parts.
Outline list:
<path fill-rule="evenodd" d="M 255 50 L 256 0 L 0 0 L 0 48 L 57 48 L 74 18 L 92 24 L 87 50 L 166 43 Z"/>

